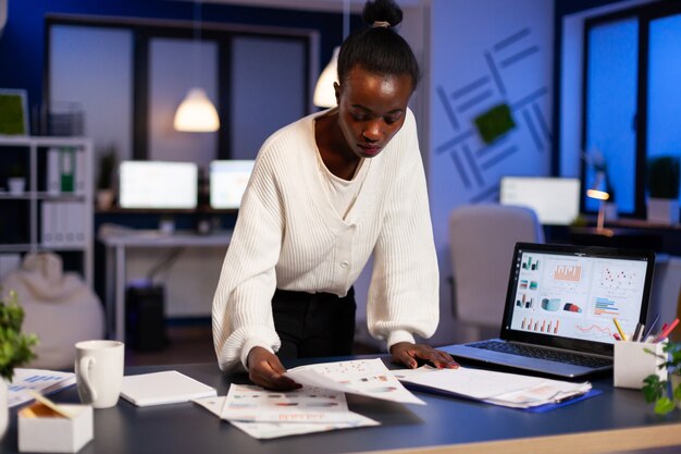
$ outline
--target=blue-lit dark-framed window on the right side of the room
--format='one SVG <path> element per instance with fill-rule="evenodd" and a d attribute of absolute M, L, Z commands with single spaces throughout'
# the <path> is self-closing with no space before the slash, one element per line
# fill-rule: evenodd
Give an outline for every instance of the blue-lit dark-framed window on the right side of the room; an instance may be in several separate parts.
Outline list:
<path fill-rule="evenodd" d="M 681 156 L 681 4 L 654 3 L 585 24 L 582 146 L 600 154 L 620 214 L 645 216 L 648 158 Z M 582 206 L 594 169 L 582 168 Z"/>

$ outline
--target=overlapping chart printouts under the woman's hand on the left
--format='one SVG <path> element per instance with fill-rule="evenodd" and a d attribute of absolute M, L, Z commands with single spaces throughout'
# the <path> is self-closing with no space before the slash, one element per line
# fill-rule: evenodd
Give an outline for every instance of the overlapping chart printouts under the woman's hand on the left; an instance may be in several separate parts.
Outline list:
<path fill-rule="evenodd" d="M 315 364 L 286 375 L 302 388 L 283 393 L 232 384 L 225 397 L 194 402 L 257 439 L 377 426 L 377 421 L 348 409 L 346 392 L 424 404 L 381 359 Z"/>

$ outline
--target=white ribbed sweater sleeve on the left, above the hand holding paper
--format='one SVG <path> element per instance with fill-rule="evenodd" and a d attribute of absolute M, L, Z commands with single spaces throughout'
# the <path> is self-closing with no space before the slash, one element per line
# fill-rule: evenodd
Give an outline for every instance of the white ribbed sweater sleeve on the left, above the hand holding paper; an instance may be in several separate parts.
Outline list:
<path fill-rule="evenodd" d="M 212 307 L 213 343 L 222 370 L 246 366 L 255 346 L 271 352 L 281 342 L 274 330 L 274 267 L 282 238 L 281 197 L 272 163 L 257 160 L 223 261 Z"/>

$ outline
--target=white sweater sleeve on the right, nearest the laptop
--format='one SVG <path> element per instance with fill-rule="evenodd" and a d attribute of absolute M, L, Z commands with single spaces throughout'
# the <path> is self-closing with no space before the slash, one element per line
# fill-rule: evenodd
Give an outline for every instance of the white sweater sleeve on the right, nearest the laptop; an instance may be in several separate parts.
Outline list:
<path fill-rule="evenodd" d="M 370 333 L 389 347 L 430 338 L 439 316 L 439 274 L 433 241 L 428 189 L 416 124 L 405 124 L 407 150 L 397 164 L 369 287 Z"/>

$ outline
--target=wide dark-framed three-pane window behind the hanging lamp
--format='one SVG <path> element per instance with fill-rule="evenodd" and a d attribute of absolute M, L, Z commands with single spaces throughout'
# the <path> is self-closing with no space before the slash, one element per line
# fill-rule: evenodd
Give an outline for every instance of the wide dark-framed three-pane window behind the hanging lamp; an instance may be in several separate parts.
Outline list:
<path fill-rule="evenodd" d="M 46 100 L 83 109 L 96 148 L 119 159 L 252 159 L 277 128 L 311 112 L 318 32 L 186 22 L 47 19 Z M 215 105 L 215 133 L 173 130 L 175 109 L 195 85 Z"/>

